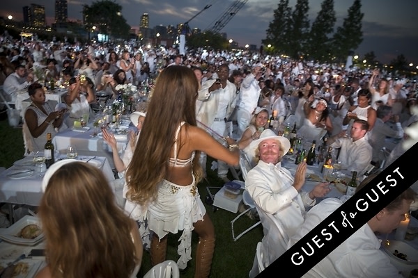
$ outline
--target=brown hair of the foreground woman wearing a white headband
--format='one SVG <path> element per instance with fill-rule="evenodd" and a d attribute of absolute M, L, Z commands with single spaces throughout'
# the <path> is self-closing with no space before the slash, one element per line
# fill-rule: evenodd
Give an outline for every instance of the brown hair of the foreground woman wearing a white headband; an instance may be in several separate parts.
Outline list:
<path fill-rule="evenodd" d="M 39 206 L 52 277 L 130 277 L 135 254 L 128 218 L 98 168 L 63 165 L 49 179 Z"/>

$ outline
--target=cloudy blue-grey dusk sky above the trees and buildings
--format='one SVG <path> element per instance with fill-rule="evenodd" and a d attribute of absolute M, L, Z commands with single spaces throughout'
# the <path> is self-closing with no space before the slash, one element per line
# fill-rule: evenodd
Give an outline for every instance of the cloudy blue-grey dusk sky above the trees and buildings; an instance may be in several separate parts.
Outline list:
<path fill-rule="evenodd" d="M 206 5 L 212 5 L 189 22 L 190 28 L 205 30 L 215 24 L 235 0 L 116 0 L 123 7 L 122 15 L 132 27 L 139 26 L 143 13 L 148 13 L 150 27 L 167 26 L 187 22 L 199 13 Z M 242 1 L 242 0 L 241 0 Z M 309 1 L 309 18 L 311 22 L 320 10 L 323 0 Z M 69 19 L 82 19 L 83 4 L 91 4 L 92 0 L 68 0 Z M 265 38 L 265 30 L 272 21 L 273 10 L 277 8 L 277 0 L 249 0 L 238 13 L 221 30 L 240 46 L 245 44 L 261 45 Z M 54 21 L 54 0 L 31 0 L 45 6 L 48 24 Z M 294 8 L 296 0 L 290 0 L 289 6 Z M 13 15 L 22 19 L 22 7 L 29 4 L 28 0 L 13 0 L 3 3 L 0 16 Z M 348 8 L 353 0 L 335 0 L 337 22 L 341 26 L 347 16 Z M 369 51 L 374 51 L 378 60 L 388 63 L 396 56 L 403 54 L 408 62 L 418 65 L 418 1 L 417 0 L 364 0 L 362 1 L 363 42 L 355 54 L 361 57 Z"/>

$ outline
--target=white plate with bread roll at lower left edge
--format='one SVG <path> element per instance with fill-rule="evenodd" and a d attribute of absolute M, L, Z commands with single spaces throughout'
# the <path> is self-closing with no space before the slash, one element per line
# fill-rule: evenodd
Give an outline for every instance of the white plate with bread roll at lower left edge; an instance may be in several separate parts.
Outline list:
<path fill-rule="evenodd" d="M 9 243 L 35 245 L 43 239 L 43 233 L 41 233 L 39 236 L 33 239 L 20 238 L 17 236 L 18 234 L 20 234 L 20 231 L 22 231 L 22 229 L 29 224 L 36 224 L 38 225 L 38 227 L 41 227 L 40 220 L 37 217 L 32 215 L 25 215 L 23 218 L 20 218 L 19 221 L 17 221 L 15 224 L 11 225 L 7 229 L 1 230 L 0 238 Z"/>

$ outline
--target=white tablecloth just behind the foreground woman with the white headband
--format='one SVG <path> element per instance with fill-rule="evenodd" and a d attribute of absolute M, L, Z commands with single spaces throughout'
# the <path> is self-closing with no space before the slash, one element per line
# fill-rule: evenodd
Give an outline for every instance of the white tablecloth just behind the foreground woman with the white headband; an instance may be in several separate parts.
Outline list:
<path fill-rule="evenodd" d="M 59 155 L 59 158 L 65 158 L 63 154 Z M 92 156 L 78 156 L 77 159 L 86 161 Z M 28 159 L 30 159 L 28 157 Z M 56 158 L 57 159 L 57 158 Z M 111 170 L 109 161 L 105 157 L 98 156 L 95 159 L 102 161 L 102 172 L 107 180 L 113 181 L 114 174 Z M 34 173 L 31 177 L 22 179 L 10 179 L 8 174 L 16 171 L 17 169 L 30 169 L 33 167 L 15 166 L 6 169 L 0 174 L 0 202 L 10 204 L 27 204 L 30 206 L 38 206 L 40 199 L 42 198 L 42 177 L 39 177 L 38 173 Z"/>

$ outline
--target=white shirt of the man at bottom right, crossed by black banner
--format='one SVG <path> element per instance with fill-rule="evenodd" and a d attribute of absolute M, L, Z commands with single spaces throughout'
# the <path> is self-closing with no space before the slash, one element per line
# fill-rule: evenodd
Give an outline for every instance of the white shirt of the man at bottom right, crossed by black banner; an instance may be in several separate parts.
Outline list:
<path fill-rule="evenodd" d="M 292 246 L 303 238 L 320 222 L 333 213 L 343 202 L 327 198 L 311 208 L 305 221 L 291 239 Z M 358 277 L 358 278 L 400 278 L 402 275 L 390 263 L 389 258 L 379 250 L 380 240 L 370 229 L 369 224 L 355 231 L 328 256 L 311 268 L 304 278 Z"/>

